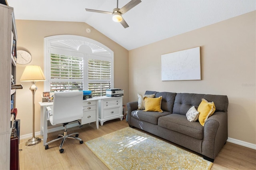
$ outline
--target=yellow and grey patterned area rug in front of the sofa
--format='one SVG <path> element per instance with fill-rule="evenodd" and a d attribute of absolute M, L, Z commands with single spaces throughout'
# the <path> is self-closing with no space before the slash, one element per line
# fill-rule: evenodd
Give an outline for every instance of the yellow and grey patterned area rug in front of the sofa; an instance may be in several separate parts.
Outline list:
<path fill-rule="evenodd" d="M 209 170 L 212 162 L 127 127 L 85 142 L 110 170 Z"/>

